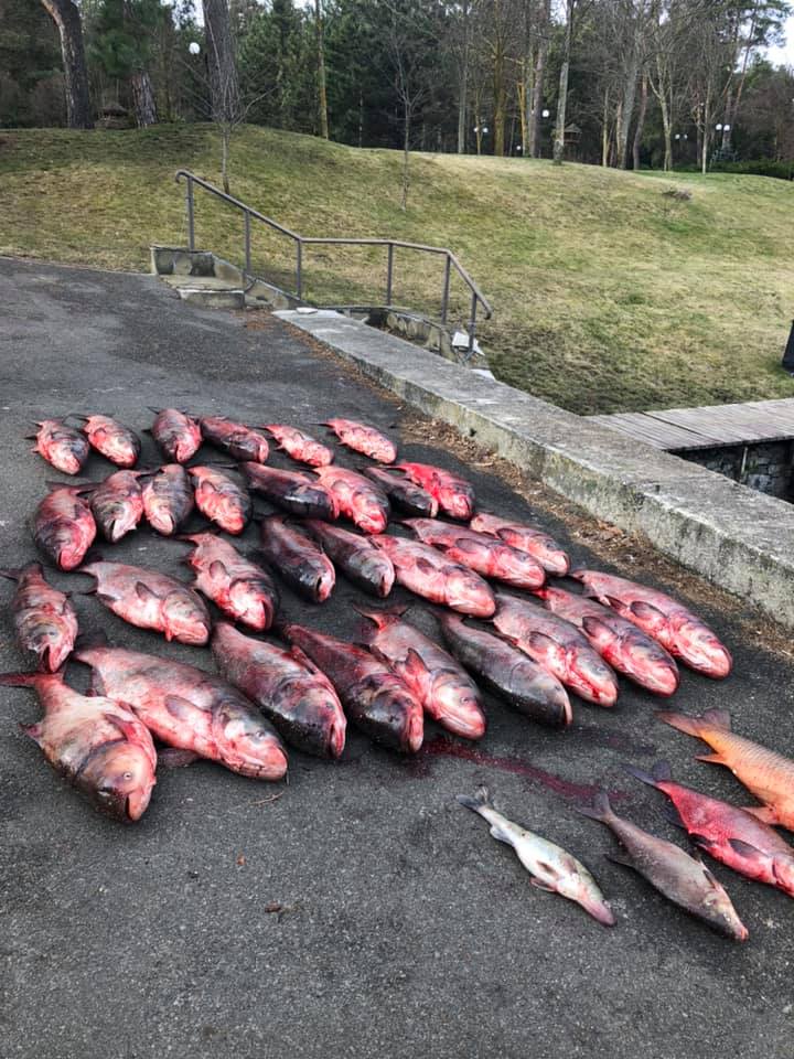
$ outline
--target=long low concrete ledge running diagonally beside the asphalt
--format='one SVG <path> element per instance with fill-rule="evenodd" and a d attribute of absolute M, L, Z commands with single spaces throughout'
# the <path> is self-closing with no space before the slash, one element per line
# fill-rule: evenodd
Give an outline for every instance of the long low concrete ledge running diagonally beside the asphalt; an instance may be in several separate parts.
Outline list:
<path fill-rule="evenodd" d="M 794 628 L 794 506 L 340 313 L 281 311 L 369 378 Z"/>

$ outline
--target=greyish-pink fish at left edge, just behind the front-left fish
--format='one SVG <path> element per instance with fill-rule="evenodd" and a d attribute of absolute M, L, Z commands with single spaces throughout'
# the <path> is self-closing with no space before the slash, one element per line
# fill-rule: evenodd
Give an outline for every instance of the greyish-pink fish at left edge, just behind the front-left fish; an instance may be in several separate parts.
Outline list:
<path fill-rule="evenodd" d="M 0 570 L 17 582 L 11 603 L 17 639 L 35 655 L 39 668 L 55 673 L 72 653 L 77 637 L 77 614 L 68 597 L 44 579 L 39 563 L 21 570 Z"/>

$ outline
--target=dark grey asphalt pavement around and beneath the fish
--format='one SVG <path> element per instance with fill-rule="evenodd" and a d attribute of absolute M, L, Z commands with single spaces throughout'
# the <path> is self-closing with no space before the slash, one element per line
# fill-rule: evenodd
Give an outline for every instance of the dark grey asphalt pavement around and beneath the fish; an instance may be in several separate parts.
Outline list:
<path fill-rule="evenodd" d="M 395 404 L 275 321 L 251 330 L 186 308 L 149 277 L 2 260 L 0 565 L 34 557 L 28 520 L 45 481 L 62 477 L 22 440 L 32 420 L 95 410 L 140 430 L 148 406 L 165 405 L 305 428 L 352 416 L 399 438 Z M 483 470 L 418 445 L 404 453 L 468 473 L 484 507 L 529 514 Z M 149 439 L 144 460 L 154 458 Z M 98 457 L 86 468 L 95 479 L 108 470 Z M 115 554 L 173 569 L 183 550 L 142 531 Z M 23 664 L 11 593 L 0 585 L 2 670 Z M 356 598 L 345 584 L 323 607 L 285 592 L 290 618 L 341 635 L 356 631 Z M 212 667 L 206 651 L 167 645 L 90 597 L 76 602 L 84 628 L 115 643 Z M 414 617 L 431 629 L 421 607 Z M 686 674 L 677 706 L 729 707 L 739 730 L 793 753 L 791 665 L 708 617 L 736 673 L 723 684 Z M 68 676 L 82 686 L 86 672 Z M 572 809 L 603 784 L 622 792 L 621 812 L 679 836 L 662 795 L 621 770 L 657 757 L 685 782 L 747 801 L 653 707 L 624 686 L 618 709 L 577 704 L 573 729 L 554 734 L 494 704 L 475 750 L 429 730 L 429 751 L 412 761 L 354 734 L 336 764 L 292 752 L 287 787 L 201 763 L 162 772 L 144 819 L 124 827 L 19 730 L 37 716 L 34 696 L 1 688 L 1 1059 L 791 1057 L 791 900 L 716 866 L 751 932 L 728 942 L 605 860 L 613 839 Z M 483 781 L 507 815 L 592 867 L 615 929 L 532 887 L 455 803 Z"/>

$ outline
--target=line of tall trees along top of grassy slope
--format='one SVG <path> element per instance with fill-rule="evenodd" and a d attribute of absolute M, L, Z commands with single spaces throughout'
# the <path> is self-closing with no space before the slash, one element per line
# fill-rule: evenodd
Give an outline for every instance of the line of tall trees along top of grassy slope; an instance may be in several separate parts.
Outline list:
<path fill-rule="evenodd" d="M 0 125 L 242 121 L 361 147 L 794 160 L 787 0 L 0 0 Z M 407 181 L 406 167 L 406 181 Z M 407 193 L 407 184 L 406 184 Z"/>

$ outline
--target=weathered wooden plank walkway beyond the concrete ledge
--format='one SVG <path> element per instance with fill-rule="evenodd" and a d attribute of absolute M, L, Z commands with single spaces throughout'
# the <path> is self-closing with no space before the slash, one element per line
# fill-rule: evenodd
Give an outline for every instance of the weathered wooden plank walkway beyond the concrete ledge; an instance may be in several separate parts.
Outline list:
<path fill-rule="evenodd" d="M 743 405 L 627 411 L 589 418 L 656 449 L 675 452 L 717 449 L 727 445 L 794 438 L 794 397 L 751 400 Z"/>

